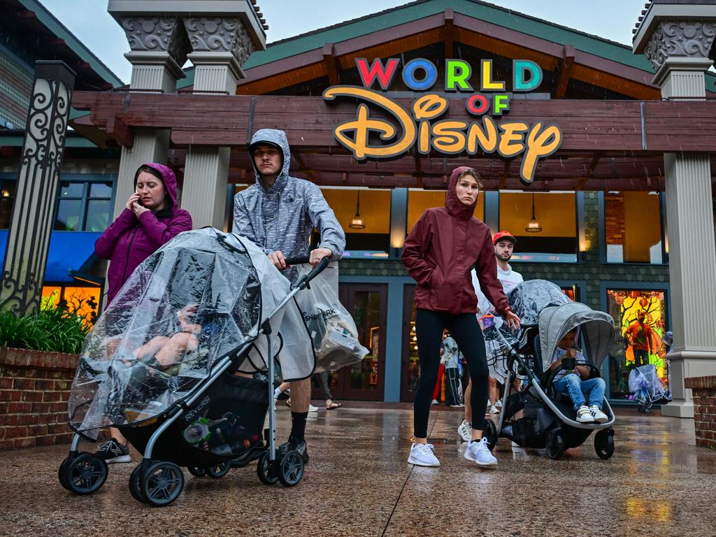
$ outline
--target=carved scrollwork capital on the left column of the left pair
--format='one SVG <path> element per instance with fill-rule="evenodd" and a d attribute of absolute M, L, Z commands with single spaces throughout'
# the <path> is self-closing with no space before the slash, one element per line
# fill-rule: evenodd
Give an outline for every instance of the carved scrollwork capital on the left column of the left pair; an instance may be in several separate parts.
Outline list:
<path fill-rule="evenodd" d="M 186 62 L 190 45 L 178 17 L 127 16 L 121 24 L 132 52 L 166 52 L 177 64 Z"/>

